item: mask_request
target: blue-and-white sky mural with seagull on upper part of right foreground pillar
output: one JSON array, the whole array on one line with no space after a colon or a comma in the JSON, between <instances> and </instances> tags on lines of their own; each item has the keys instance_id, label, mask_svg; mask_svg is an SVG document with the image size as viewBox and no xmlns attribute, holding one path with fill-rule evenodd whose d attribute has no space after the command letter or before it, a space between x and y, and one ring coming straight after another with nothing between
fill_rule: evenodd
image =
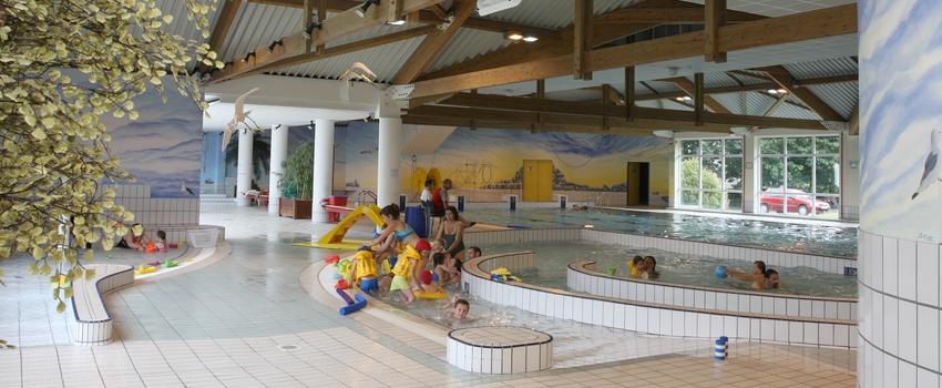
<instances>
[{"instance_id":1,"label":"blue-and-white sky mural with seagull on upper part of right foreground pillar","mask_svg":"<svg viewBox=\"0 0 942 388\"><path fill-rule=\"evenodd\" d=\"M942 242L942 8L860 1L861 227Z\"/></svg>"}]
</instances>

